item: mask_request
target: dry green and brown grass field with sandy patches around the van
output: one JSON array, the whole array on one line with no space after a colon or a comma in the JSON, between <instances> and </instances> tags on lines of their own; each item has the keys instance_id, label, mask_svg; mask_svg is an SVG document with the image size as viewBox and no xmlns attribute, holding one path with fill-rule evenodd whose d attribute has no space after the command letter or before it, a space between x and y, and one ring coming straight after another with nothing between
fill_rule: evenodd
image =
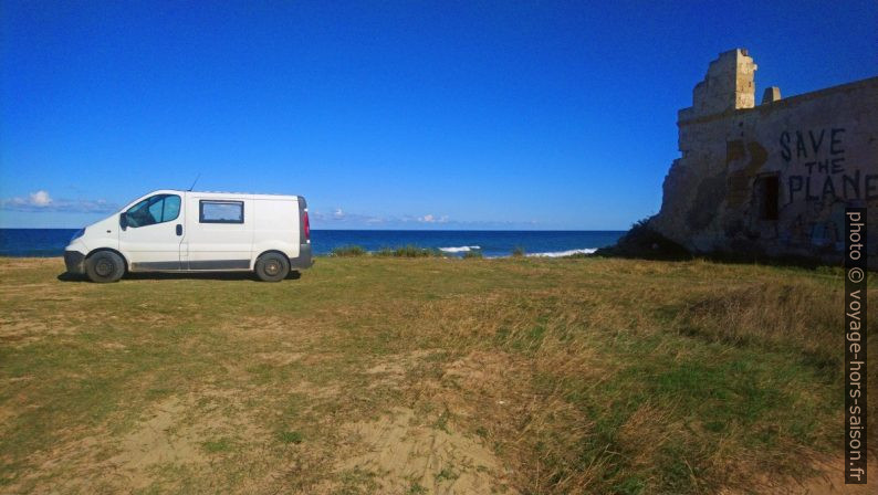
<instances>
[{"instance_id":1,"label":"dry green and brown grass field with sandy patches around the van","mask_svg":"<svg viewBox=\"0 0 878 495\"><path fill-rule=\"evenodd\" d=\"M842 470L840 270L62 272L0 260L3 493L822 493Z\"/></svg>"}]
</instances>

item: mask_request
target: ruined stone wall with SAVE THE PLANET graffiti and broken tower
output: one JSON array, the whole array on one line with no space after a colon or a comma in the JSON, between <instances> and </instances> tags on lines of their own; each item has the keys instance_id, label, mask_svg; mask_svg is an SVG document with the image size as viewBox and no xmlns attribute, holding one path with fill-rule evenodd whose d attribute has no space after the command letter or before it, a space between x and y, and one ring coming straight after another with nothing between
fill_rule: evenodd
<instances>
[{"instance_id":1,"label":"ruined stone wall with SAVE THE PLANET graffiti and broken tower","mask_svg":"<svg viewBox=\"0 0 878 495\"><path fill-rule=\"evenodd\" d=\"M878 77L755 105L756 65L720 54L678 116L679 148L650 227L696 253L842 261L844 210L868 210L878 265Z\"/></svg>"}]
</instances>

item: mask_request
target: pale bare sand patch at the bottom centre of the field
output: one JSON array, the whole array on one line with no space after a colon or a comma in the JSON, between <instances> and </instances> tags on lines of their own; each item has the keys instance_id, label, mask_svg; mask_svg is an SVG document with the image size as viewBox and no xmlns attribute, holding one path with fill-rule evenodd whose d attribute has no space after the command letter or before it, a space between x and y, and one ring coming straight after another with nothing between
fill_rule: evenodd
<instances>
[{"instance_id":1,"label":"pale bare sand patch at the bottom centre of the field","mask_svg":"<svg viewBox=\"0 0 878 495\"><path fill-rule=\"evenodd\" d=\"M516 493L510 486L513 473L482 433L461 426L482 413L513 413L510 406L520 402L508 393L504 375L511 358L478 352L446 364L437 352L385 356L364 370L370 388L401 388L415 406L342 426L346 446L336 474L365 475L376 493Z\"/></svg>"}]
</instances>

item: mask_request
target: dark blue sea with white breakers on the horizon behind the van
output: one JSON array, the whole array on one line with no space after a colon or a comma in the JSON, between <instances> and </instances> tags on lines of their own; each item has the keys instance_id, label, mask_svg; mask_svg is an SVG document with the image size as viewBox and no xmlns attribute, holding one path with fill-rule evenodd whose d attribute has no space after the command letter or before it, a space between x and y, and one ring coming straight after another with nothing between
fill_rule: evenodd
<instances>
[{"instance_id":1,"label":"dark blue sea with white breakers on the horizon behind the van","mask_svg":"<svg viewBox=\"0 0 878 495\"><path fill-rule=\"evenodd\" d=\"M0 229L0 256L61 256L77 229ZM437 249L450 256L479 251L485 257L509 256L516 249L529 256L568 256L613 245L625 233L616 230L312 230L314 254L358 245L366 251L407 245Z\"/></svg>"}]
</instances>

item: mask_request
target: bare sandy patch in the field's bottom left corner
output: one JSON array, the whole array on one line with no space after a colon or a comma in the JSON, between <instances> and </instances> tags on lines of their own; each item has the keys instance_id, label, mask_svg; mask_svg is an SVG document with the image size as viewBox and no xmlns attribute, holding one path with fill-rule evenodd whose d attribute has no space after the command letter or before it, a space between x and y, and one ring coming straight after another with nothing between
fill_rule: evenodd
<instances>
[{"instance_id":1,"label":"bare sandy patch in the field's bottom left corner","mask_svg":"<svg viewBox=\"0 0 878 495\"><path fill-rule=\"evenodd\" d=\"M216 460L269 443L270 434L241 413L236 396L207 389L164 399L118 436L104 426L71 430L53 449L32 455L39 470L10 487L13 493L128 493L150 486L164 492L180 482L168 480L168 470L209 476Z\"/></svg>"}]
</instances>

